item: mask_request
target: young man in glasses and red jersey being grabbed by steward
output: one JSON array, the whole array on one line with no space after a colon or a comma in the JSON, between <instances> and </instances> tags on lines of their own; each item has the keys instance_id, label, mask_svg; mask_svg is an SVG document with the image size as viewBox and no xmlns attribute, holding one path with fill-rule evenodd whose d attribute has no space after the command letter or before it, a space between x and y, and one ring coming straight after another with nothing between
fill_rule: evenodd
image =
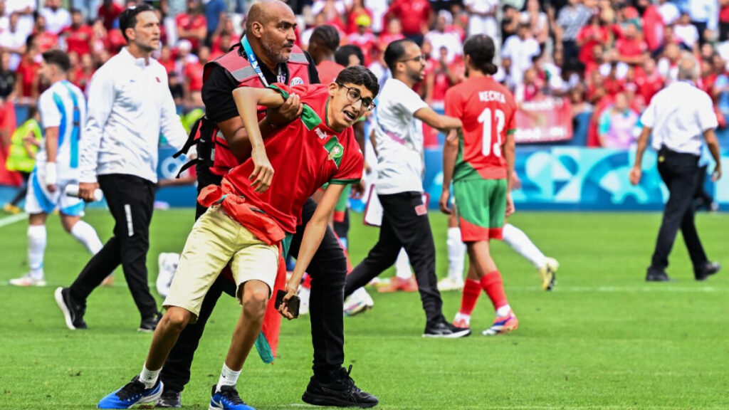
<instances>
[{"instance_id":1,"label":"young man in glasses and red jersey being grabbed by steward","mask_svg":"<svg viewBox=\"0 0 729 410\"><path fill-rule=\"evenodd\" d=\"M252 144L252 158L228 172L221 186L209 185L200 192L198 201L209 208L188 236L163 303L167 312L157 325L144 368L102 399L99 409L128 409L159 397L163 387L158 376L170 349L182 329L197 319L206 292L229 261L243 309L220 379L213 386L210 409L253 409L243 403L235 383L260 332L280 255L285 255L282 248L296 231L305 201L328 183L303 233L297 264L286 284L284 301L288 301L296 295L344 186L362 177L364 159L351 126L374 107L378 91L377 78L362 66L343 70L328 85L277 83L233 91ZM280 107L289 94L300 97L301 116L273 131L264 143L257 107ZM285 307L281 314L293 318ZM305 401L316 401L311 399ZM377 398L367 395L359 406L377 403Z\"/></svg>"}]
</instances>

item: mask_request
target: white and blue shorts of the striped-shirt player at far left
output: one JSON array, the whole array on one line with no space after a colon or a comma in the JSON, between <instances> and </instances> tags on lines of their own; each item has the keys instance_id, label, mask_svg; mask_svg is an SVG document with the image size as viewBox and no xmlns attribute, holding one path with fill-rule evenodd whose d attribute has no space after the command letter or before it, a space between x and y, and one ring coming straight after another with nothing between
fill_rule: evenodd
<instances>
[{"instance_id":1,"label":"white and blue shorts of the striped-shirt player at far left","mask_svg":"<svg viewBox=\"0 0 729 410\"><path fill-rule=\"evenodd\" d=\"M51 212L58 209L62 214L72 217L84 216L84 201L73 196L63 194L66 191L66 185L78 185L76 179L58 179L55 192L48 192L42 175L39 175L38 169L31 172L28 177L28 193L26 194L26 212L28 214L40 214Z\"/></svg>"}]
</instances>

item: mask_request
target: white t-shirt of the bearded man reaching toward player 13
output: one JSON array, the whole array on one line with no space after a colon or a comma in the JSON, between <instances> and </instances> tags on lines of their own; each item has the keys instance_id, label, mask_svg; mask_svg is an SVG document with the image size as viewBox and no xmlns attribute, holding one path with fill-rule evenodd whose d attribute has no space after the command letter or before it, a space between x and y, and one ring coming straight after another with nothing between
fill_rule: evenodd
<instances>
[{"instance_id":1,"label":"white t-shirt of the bearded man reaching toward player 13","mask_svg":"<svg viewBox=\"0 0 729 410\"><path fill-rule=\"evenodd\" d=\"M377 193L423 192L423 123L413 114L428 104L394 78L385 82L378 100Z\"/></svg>"}]
</instances>

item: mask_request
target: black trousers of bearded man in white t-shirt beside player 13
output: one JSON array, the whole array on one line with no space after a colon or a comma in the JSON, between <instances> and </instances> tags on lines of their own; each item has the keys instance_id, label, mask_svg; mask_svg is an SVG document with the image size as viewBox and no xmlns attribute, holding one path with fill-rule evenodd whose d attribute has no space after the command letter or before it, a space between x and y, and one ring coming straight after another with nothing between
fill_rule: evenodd
<instances>
[{"instance_id":1,"label":"black trousers of bearded man in white t-shirt beside player 13","mask_svg":"<svg viewBox=\"0 0 729 410\"><path fill-rule=\"evenodd\" d=\"M383 207L380 237L367 258L347 276L345 297L394 265L400 248L404 247L415 271L428 325L444 322L443 301L435 275L435 244L422 194L405 192L378 195L378 198Z\"/></svg>"}]
</instances>

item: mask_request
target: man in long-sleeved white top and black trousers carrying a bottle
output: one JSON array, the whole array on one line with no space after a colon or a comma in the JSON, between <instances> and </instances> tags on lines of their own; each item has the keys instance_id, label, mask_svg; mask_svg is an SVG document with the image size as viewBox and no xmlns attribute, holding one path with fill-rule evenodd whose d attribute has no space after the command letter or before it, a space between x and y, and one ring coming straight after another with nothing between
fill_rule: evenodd
<instances>
[{"instance_id":1,"label":"man in long-sleeved white top and black trousers carrying a bottle","mask_svg":"<svg viewBox=\"0 0 729 410\"><path fill-rule=\"evenodd\" d=\"M160 21L149 4L119 18L128 42L93 76L81 141L79 197L93 201L101 187L112 212L114 236L86 264L71 287L56 290L56 302L71 329L86 328L86 299L120 264L141 314L140 331L157 327L159 311L147 284L149 223L157 183L160 133L176 148L187 133L177 117L167 72L151 58L160 47Z\"/></svg>"}]
</instances>

